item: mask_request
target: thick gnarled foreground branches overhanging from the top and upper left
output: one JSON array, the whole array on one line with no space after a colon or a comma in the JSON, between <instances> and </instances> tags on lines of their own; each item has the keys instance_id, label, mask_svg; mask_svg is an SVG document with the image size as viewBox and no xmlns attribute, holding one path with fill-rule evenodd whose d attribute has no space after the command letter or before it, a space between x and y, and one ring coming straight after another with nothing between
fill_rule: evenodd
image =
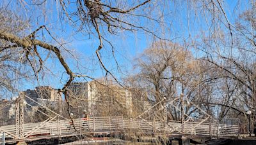
<instances>
[{"instance_id":1,"label":"thick gnarled foreground branches overhanging from the top and upper left","mask_svg":"<svg viewBox=\"0 0 256 145\"><path fill-rule=\"evenodd\" d=\"M31 3L32 6L35 6L35 9L39 11L39 6L48 4L48 1L43 1L42 3L34 3L34 1L31 1L29 3ZM110 74L117 82L119 81L107 69L107 67L104 65L102 57L100 56L100 50L102 50L104 42L106 42L111 46L111 53L115 59L115 51L113 50L113 46L108 39L105 38L105 35L117 34L117 31L142 30L152 34L155 37L158 37L154 32L150 31L150 29L147 29L147 27L144 27L141 24L137 25L134 23L135 21L129 21L129 17L143 17L144 15L147 15L147 13L145 14L145 11L137 10L149 4L150 1L139 1L138 3L134 1L134 3L129 4L125 4L125 2L109 3L109 1L103 2L88 0L79 0L75 1L75 3L69 3L69 1L57 1L57 3L60 4L61 12L64 13L64 15L61 15L60 17L63 18L61 21L63 20L63 22L65 22L65 20L69 20L74 29L76 29L78 25L80 26L79 29L77 29L77 32L81 31L85 35L93 35L93 38L99 40L99 46L92 50L95 50L100 66L104 69L104 71L106 71L106 75ZM27 3L24 1L20 1L20 4L17 4L17 6L24 6L24 11L26 13L30 13L29 8L26 7L26 4ZM70 9L70 7L74 9ZM145 8L150 7L147 6ZM56 9L58 10L58 8ZM124 18L127 20L124 20ZM6 21L3 22L6 23ZM105 34L106 31L108 33ZM43 34L41 35L40 32ZM54 41L54 43L45 41L44 34L47 34L47 38L50 38L52 41ZM6 31L6 29L0 29L0 39L7 41L10 44L4 46L4 50L9 51L19 49L21 51L20 56L22 56L23 60L28 62L29 66L31 66L36 78L38 78L38 74L40 72L43 72L44 69L46 69L45 62L49 60L49 56L56 57L58 59L61 66L65 70L65 75L68 76L67 81L60 89L60 92L63 92L65 95L65 100L68 104L67 110L69 110L69 103L67 99L69 93L67 87L70 85L70 83L75 78L93 79L86 74L76 73L74 70L70 69L70 65L68 65L67 60L65 60L65 56L63 55L63 52L69 52L69 50L63 46L65 44L60 43L60 41L54 37L47 25L39 25L32 32L24 32L23 34L17 34L16 32L12 33ZM45 53L48 54L47 57L44 57Z\"/></svg>"}]
</instances>

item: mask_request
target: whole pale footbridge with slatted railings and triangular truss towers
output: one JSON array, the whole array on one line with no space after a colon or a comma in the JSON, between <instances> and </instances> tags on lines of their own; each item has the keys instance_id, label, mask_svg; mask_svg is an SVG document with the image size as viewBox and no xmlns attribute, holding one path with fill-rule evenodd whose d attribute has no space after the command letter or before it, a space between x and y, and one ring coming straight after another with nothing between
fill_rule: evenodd
<instances>
[{"instance_id":1,"label":"whole pale footbridge with slatted railings and triangular truss towers","mask_svg":"<svg viewBox=\"0 0 256 145\"><path fill-rule=\"evenodd\" d=\"M44 115L49 118L39 123L24 123L24 97L35 102L40 107L44 107L47 111L55 116ZM173 102L181 100L181 107L177 107ZM239 137L239 121L237 119L218 120L212 118L203 109L190 102L205 114L204 119L192 118L184 113L184 99L177 97L173 100L166 100L150 107L147 111L133 119L124 118L122 116L101 116L88 117L78 119L67 119L46 106L36 102L26 95L20 95L16 101L15 125L6 125L0 127L0 134L4 134L5 142L31 142L44 139L61 139L77 137L78 139L111 135L114 137L186 137L189 139L198 137L209 138L236 138ZM161 112L164 113L163 118L157 116L159 111L154 112L154 118L149 119L148 111L154 109L157 105L163 103ZM181 120L167 120L166 108L173 106L180 111ZM160 114L161 116L161 114ZM185 118L186 116L186 118ZM61 118L61 119L60 119Z\"/></svg>"}]
</instances>

